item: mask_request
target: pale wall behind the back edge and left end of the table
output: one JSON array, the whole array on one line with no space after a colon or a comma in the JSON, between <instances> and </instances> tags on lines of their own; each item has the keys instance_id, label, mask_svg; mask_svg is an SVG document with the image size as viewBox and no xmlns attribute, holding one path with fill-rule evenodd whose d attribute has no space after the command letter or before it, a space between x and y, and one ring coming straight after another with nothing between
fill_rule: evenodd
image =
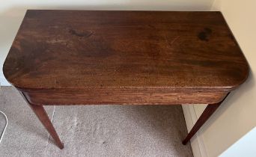
<instances>
[{"instance_id":1,"label":"pale wall behind the back edge and left end of the table","mask_svg":"<svg viewBox=\"0 0 256 157\"><path fill-rule=\"evenodd\" d=\"M0 0L0 83L2 64L27 9L210 10L213 0Z\"/></svg>"}]
</instances>

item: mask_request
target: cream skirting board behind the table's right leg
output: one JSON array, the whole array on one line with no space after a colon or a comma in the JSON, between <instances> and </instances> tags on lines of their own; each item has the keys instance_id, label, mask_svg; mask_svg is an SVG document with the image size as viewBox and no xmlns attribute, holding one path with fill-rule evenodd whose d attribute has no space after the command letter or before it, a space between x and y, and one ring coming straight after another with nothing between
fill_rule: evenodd
<instances>
[{"instance_id":1,"label":"cream skirting board behind the table's right leg","mask_svg":"<svg viewBox=\"0 0 256 157\"><path fill-rule=\"evenodd\" d=\"M186 127L188 132L195 125L195 122L198 120L197 114L195 112L194 105L182 105L183 114L186 121ZM194 135L190 140L194 157L208 157L207 150L204 147L204 139L200 133L200 130Z\"/></svg>"}]
</instances>

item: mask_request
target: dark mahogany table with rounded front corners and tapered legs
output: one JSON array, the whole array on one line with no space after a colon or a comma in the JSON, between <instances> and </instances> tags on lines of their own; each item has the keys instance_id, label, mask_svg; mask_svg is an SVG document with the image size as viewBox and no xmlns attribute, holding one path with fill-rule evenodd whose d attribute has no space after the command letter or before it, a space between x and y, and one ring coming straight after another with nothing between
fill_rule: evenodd
<instances>
[{"instance_id":1,"label":"dark mahogany table with rounded front corners and tapered legs","mask_svg":"<svg viewBox=\"0 0 256 157\"><path fill-rule=\"evenodd\" d=\"M209 104L186 144L249 65L220 12L28 10L3 71L62 149L43 105Z\"/></svg>"}]
</instances>

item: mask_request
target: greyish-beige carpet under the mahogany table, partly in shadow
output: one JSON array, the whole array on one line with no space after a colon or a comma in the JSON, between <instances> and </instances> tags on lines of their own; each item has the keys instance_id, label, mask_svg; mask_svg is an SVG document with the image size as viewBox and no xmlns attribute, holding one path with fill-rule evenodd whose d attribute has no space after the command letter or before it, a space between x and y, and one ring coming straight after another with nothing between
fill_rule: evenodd
<instances>
[{"instance_id":1,"label":"greyish-beige carpet under the mahogany table, partly in shadow","mask_svg":"<svg viewBox=\"0 0 256 157\"><path fill-rule=\"evenodd\" d=\"M180 105L48 106L64 150L13 87L0 88L0 110L0 156L192 156Z\"/></svg>"}]
</instances>

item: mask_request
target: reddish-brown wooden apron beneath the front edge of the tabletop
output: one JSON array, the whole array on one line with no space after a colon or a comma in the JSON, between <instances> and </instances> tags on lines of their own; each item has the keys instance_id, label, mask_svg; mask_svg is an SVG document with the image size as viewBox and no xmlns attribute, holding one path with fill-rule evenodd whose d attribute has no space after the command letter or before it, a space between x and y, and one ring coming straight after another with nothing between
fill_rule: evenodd
<instances>
[{"instance_id":1,"label":"reddish-brown wooden apron beneath the front edge of the tabletop","mask_svg":"<svg viewBox=\"0 0 256 157\"><path fill-rule=\"evenodd\" d=\"M34 105L175 105L213 104L227 91L183 92L162 89L129 90L47 90L22 91Z\"/></svg>"}]
</instances>

